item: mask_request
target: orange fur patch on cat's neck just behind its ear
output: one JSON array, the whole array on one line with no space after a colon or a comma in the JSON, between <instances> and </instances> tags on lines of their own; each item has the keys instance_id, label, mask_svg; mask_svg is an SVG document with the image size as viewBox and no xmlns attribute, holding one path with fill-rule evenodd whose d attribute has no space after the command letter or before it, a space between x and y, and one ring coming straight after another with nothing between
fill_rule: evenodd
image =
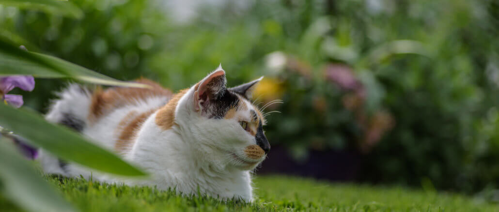
<instances>
[{"instance_id":1,"label":"orange fur patch on cat's neck just behind its ear","mask_svg":"<svg viewBox=\"0 0 499 212\"><path fill-rule=\"evenodd\" d=\"M189 91L189 88L179 91L165 106L158 110L158 113L156 114L156 124L163 130L168 130L175 124L175 108L177 107L180 98L182 98L187 91Z\"/></svg>"}]
</instances>

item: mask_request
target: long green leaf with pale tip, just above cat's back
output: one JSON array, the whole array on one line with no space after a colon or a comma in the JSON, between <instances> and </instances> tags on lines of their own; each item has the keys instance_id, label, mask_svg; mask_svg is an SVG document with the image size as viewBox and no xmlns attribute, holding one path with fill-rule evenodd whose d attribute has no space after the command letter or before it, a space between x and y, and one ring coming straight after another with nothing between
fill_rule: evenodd
<instances>
[{"instance_id":1,"label":"long green leaf with pale tip, just above cat's back","mask_svg":"<svg viewBox=\"0 0 499 212\"><path fill-rule=\"evenodd\" d=\"M0 37L0 76L33 75L38 78L74 78L88 83L150 88L135 82L124 82L64 61L57 57L21 50Z\"/></svg>"}]
</instances>

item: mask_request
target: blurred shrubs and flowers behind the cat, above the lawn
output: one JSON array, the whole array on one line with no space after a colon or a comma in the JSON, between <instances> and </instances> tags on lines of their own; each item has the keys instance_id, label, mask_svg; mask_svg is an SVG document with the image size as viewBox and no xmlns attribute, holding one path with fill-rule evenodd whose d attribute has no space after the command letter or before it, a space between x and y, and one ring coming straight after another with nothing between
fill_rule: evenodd
<instances>
[{"instance_id":1,"label":"blurred shrubs and flowers behind the cat, above the lawn","mask_svg":"<svg viewBox=\"0 0 499 212\"><path fill-rule=\"evenodd\" d=\"M174 91L222 63L259 76L280 173L499 201L497 0L72 0L82 18L0 5L1 33L120 80ZM43 8L41 8L43 9ZM37 79L45 112L67 82Z\"/></svg>"}]
</instances>

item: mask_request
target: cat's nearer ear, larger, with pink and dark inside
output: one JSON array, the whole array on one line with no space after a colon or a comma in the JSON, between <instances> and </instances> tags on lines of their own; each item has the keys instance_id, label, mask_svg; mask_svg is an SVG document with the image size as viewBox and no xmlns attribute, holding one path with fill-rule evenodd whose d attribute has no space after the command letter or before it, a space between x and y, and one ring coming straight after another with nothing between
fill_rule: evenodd
<instances>
[{"instance_id":1,"label":"cat's nearer ear, larger, with pink and dark inside","mask_svg":"<svg viewBox=\"0 0 499 212\"><path fill-rule=\"evenodd\" d=\"M223 95L227 90L226 84L225 71L219 66L194 87L194 109L199 111L210 101Z\"/></svg>"}]
</instances>

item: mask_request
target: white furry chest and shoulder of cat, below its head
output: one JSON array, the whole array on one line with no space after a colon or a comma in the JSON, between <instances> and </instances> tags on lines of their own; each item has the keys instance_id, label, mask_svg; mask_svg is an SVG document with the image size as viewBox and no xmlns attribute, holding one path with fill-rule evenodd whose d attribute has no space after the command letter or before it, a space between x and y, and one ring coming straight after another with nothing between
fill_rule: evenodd
<instances>
[{"instance_id":1,"label":"white furry chest and shoulder of cat, below its head","mask_svg":"<svg viewBox=\"0 0 499 212\"><path fill-rule=\"evenodd\" d=\"M175 188L184 194L197 194L199 188L212 197L251 199L249 171L210 168L207 157L187 145L180 129L160 129L155 125L155 115L145 121L128 156L153 176L148 185L162 190Z\"/></svg>"}]
</instances>

